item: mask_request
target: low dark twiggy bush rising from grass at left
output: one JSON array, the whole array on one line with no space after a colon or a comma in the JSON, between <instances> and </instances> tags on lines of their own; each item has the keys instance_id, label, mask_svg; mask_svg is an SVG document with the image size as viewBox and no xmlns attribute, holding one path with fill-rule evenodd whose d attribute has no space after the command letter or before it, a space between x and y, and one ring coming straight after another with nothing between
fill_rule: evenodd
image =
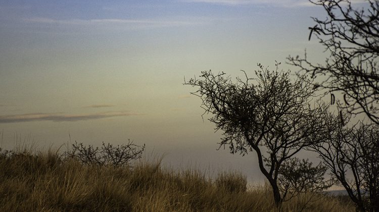
<instances>
[{"instance_id":1,"label":"low dark twiggy bush rising from grass at left","mask_svg":"<svg viewBox=\"0 0 379 212\"><path fill-rule=\"evenodd\" d=\"M65 158L72 158L80 161L85 165L113 166L113 167L130 167L129 161L141 158L145 150L145 144L138 146L128 139L124 145L113 146L103 142L99 148L92 145L84 146L83 143L75 141L72 149L64 152Z\"/></svg>"}]
</instances>

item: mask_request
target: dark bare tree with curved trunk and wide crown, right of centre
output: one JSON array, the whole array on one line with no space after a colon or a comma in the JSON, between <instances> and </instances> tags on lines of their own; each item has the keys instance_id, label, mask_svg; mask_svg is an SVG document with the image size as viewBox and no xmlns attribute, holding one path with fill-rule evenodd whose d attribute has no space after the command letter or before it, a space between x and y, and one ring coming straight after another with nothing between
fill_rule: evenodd
<instances>
[{"instance_id":1,"label":"dark bare tree with curved trunk and wide crown, right of centre","mask_svg":"<svg viewBox=\"0 0 379 212\"><path fill-rule=\"evenodd\" d=\"M257 79L244 72L245 78L232 82L223 72L203 71L200 79L184 84L198 88L192 94L202 99L205 114L213 115L209 120L216 130L223 131L219 147L228 145L231 153L242 155L256 152L279 207L285 197L278 181L281 166L309 145L310 135L324 132L328 107L320 102L311 105L314 89L306 76L291 80L290 72L279 71L278 64L274 71L258 67Z\"/></svg>"}]
</instances>

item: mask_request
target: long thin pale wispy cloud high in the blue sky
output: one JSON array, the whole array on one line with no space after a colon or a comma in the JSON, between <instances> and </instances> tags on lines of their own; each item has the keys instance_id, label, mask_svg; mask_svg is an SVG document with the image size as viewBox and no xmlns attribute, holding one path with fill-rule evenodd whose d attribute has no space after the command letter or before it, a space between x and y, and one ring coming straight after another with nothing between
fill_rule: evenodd
<instances>
[{"instance_id":1,"label":"long thin pale wispy cloud high in the blue sky","mask_svg":"<svg viewBox=\"0 0 379 212\"><path fill-rule=\"evenodd\" d=\"M190 25L200 25L205 24L206 20L193 20L188 18L188 20L153 20L153 19L51 19L51 18L28 18L23 19L29 23L40 23L40 24L61 24L61 25L121 25L121 26L131 26L131 27L177 27L177 26L190 26Z\"/></svg>"}]
</instances>

